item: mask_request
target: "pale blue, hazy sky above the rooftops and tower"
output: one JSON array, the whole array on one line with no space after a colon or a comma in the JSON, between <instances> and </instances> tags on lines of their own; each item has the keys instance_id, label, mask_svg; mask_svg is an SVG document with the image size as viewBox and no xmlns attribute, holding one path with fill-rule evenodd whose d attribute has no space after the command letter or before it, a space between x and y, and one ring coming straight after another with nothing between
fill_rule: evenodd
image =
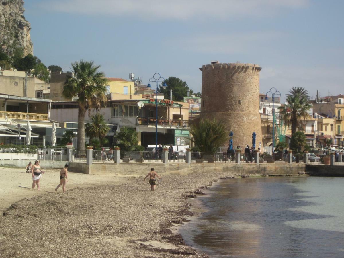
<instances>
[{"instance_id":1,"label":"pale blue, hazy sky above the rooftops and tower","mask_svg":"<svg viewBox=\"0 0 344 258\"><path fill-rule=\"evenodd\" d=\"M259 64L260 92L344 94L344 1L26 0L34 55L70 71L93 60L108 77L179 77L201 92L211 61Z\"/></svg>"}]
</instances>

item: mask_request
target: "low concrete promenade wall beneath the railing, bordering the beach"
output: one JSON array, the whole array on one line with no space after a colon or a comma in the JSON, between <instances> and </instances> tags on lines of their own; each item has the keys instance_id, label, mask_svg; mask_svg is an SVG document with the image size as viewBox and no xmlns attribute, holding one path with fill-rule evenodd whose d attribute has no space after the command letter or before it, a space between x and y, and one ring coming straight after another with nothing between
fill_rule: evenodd
<instances>
[{"instance_id":1,"label":"low concrete promenade wall beneath the railing, bordering the beach","mask_svg":"<svg viewBox=\"0 0 344 258\"><path fill-rule=\"evenodd\" d=\"M146 175L151 168L157 173L188 174L192 172L218 171L236 174L262 174L262 175L297 175L305 171L305 164L92 164L69 162L68 170L85 174L113 174L115 176L138 176Z\"/></svg>"}]
</instances>

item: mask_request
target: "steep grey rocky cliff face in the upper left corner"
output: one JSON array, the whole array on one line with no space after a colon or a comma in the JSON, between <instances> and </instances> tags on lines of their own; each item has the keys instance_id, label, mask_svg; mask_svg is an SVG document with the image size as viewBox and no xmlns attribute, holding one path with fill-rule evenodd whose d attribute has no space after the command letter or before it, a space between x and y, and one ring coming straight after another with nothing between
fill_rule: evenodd
<instances>
[{"instance_id":1,"label":"steep grey rocky cliff face in the upper left corner","mask_svg":"<svg viewBox=\"0 0 344 258\"><path fill-rule=\"evenodd\" d=\"M14 49L23 48L24 56L33 54L31 26L25 20L23 0L0 0L0 45L11 56Z\"/></svg>"}]
</instances>

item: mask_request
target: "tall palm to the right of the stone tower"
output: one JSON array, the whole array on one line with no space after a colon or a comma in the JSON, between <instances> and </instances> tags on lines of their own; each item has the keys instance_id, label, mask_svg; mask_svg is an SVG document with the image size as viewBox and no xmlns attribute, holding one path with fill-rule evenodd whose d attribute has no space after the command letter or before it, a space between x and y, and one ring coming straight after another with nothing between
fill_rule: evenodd
<instances>
[{"instance_id":1,"label":"tall palm to the right of the stone tower","mask_svg":"<svg viewBox=\"0 0 344 258\"><path fill-rule=\"evenodd\" d=\"M287 104L281 106L280 115L284 121L290 119L291 122L291 135L296 132L297 128L301 127L301 120L308 119L309 114L308 110L312 107L309 103L308 98L304 94L308 94L307 90L304 88L293 89L290 92L295 90L295 95L290 95L287 97Z\"/></svg>"}]
</instances>

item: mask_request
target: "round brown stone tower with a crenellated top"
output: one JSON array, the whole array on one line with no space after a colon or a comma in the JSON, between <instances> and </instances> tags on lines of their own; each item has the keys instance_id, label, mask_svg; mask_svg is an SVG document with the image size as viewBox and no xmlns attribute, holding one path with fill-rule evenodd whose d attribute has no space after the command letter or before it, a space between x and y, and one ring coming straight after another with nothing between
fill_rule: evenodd
<instances>
[{"instance_id":1,"label":"round brown stone tower with a crenellated top","mask_svg":"<svg viewBox=\"0 0 344 258\"><path fill-rule=\"evenodd\" d=\"M201 118L223 122L228 134L233 131L233 146L244 151L252 146L252 132L256 132L256 149L262 141L259 114L259 72L254 64L203 65ZM223 146L228 147L229 142Z\"/></svg>"}]
</instances>

